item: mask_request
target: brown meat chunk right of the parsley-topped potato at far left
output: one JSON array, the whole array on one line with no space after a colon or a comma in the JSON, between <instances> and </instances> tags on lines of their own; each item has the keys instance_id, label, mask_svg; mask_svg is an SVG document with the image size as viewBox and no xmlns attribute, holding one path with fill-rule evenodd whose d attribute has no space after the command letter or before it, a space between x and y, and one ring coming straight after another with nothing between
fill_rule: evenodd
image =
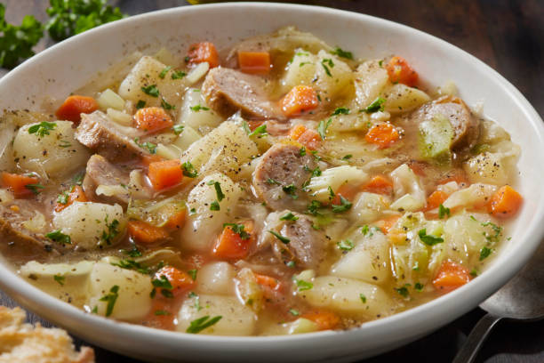
<instances>
[{"instance_id":1,"label":"brown meat chunk right of the parsley-topped potato at far left","mask_svg":"<svg viewBox=\"0 0 544 363\"><path fill-rule=\"evenodd\" d=\"M143 135L135 128L117 125L101 111L82 114L76 128L77 141L110 161L130 160L147 154L134 141Z\"/></svg>"}]
</instances>

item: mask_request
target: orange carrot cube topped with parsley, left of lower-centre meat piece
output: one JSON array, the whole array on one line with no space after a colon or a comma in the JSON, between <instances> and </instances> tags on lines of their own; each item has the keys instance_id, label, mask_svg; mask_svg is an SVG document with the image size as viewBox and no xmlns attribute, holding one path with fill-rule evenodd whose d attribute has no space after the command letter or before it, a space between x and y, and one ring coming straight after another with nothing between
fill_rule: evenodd
<instances>
[{"instance_id":1,"label":"orange carrot cube topped with parsley, left of lower-centre meat piece","mask_svg":"<svg viewBox=\"0 0 544 363\"><path fill-rule=\"evenodd\" d=\"M213 246L212 254L216 257L240 260L249 254L249 247L252 244L253 222L245 221L236 224L244 225L244 232L249 236L242 238L240 233L232 230L232 227L226 226Z\"/></svg>"}]
</instances>

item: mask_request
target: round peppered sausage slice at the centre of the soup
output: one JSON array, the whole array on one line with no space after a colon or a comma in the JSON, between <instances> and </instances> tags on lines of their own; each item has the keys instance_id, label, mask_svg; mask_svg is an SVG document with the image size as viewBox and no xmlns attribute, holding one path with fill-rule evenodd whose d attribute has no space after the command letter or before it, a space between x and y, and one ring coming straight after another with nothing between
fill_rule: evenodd
<instances>
[{"instance_id":1,"label":"round peppered sausage slice at the centre of the soup","mask_svg":"<svg viewBox=\"0 0 544 363\"><path fill-rule=\"evenodd\" d=\"M276 143L255 167L253 187L271 208L300 210L308 205L302 188L317 164L308 152L300 154L299 146Z\"/></svg>"}]
</instances>

